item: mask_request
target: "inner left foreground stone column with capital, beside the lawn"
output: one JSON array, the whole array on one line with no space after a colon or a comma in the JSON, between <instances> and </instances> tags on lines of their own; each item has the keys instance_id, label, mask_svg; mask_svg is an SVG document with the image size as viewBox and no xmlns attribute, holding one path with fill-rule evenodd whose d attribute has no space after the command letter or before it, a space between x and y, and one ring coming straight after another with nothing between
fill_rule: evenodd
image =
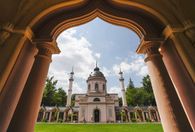
<instances>
[{"instance_id":1,"label":"inner left foreground stone column with capital, beside the lawn","mask_svg":"<svg viewBox=\"0 0 195 132\"><path fill-rule=\"evenodd\" d=\"M51 55L59 53L53 42L36 43L38 54L20 97L8 131L33 132L39 112Z\"/></svg>"}]
</instances>

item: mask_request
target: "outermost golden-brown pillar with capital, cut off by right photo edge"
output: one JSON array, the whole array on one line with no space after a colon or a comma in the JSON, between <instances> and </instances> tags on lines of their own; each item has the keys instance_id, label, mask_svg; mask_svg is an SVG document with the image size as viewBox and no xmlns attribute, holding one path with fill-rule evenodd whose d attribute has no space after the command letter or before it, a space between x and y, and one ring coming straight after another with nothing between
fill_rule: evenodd
<instances>
[{"instance_id":1,"label":"outermost golden-brown pillar with capital, cut off by right photo edge","mask_svg":"<svg viewBox=\"0 0 195 132\"><path fill-rule=\"evenodd\" d=\"M195 26L192 23L187 23L185 26L185 29L167 26L163 33L168 39L171 39L174 42L174 46L177 49L179 56L195 83Z\"/></svg>"}]
</instances>

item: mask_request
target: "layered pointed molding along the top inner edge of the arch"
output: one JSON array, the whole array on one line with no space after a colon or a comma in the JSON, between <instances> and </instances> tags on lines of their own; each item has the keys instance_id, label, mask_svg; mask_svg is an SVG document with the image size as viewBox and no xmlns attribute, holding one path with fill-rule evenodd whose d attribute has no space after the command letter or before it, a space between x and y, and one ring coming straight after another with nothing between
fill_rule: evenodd
<instances>
[{"instance_id":1,"label":"layered pointed molding along the top inner edge of the arch","mask_svg":"<svg viewBox=\"0 0 195 132\"><path fill-rule=\"evenodd\" d=\"M140 38L147 34L145 29L142 28L138 23L131 21L125 17L111 15L98 8L94 9L88 14L75 18L70 18L63 21L62 23L59 23L56 27L54 27L50 34L51 36L53 36L53 38L57 38L57 36L59 36L59 34L65 29L71 28L73 26L78 26L80 24L84 24L86 22L93 20L96 17L99 17L106 22L129 28L133 30Z\"/></svg>"}]
</instances>

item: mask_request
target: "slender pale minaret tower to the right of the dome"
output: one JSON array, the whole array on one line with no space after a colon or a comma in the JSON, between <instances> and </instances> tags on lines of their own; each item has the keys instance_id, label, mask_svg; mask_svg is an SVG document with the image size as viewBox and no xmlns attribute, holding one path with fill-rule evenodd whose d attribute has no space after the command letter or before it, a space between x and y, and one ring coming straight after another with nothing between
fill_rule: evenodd
<instances>
[{"instance_id":1,"label":"slender pale minaret tower to the right of the dome","mask_svg":"<svg viewBox=\"0 0 195 132\"><path fill-rule=\"evenodd\" d=\"M120 81L120 85L121 85L123 106L127 106L126 95L125 95L124 77L123 77L123 72L121 71L121 69L120 69L119 75L120 75L119 81Z\"/></svg>"}]
</instances>

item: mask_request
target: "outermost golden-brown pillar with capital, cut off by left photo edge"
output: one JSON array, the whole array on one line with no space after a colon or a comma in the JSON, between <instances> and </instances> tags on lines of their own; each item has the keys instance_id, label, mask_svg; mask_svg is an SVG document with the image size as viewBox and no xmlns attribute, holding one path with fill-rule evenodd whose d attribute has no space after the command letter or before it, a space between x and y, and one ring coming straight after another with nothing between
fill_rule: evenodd
<instances>
[{"instance_id":1,"label":"outermost golden-brown pillar with capital, cut off by left photo edge","mask_svg":"<svg viewBox=\"0 0 195 132\"><path fill-rule=\"evenodd\" d=\"M33 35L30 28L18 29L19 32L14 28L12 23L0 23L0 93L15 67L25 42L31 40Z\"/></svg>"}]
</instances>

